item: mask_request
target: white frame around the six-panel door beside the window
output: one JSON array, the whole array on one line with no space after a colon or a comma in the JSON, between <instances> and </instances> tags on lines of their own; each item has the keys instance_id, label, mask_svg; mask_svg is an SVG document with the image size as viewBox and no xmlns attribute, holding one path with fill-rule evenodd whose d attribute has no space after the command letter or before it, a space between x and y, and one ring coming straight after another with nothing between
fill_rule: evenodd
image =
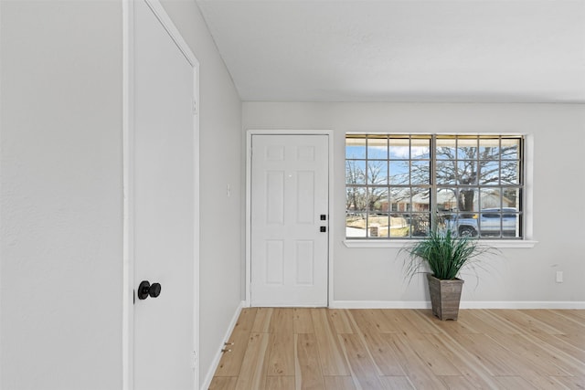
<instances>
[{"instance_id":1,"label":"white frame around the six-panel door beside the window","mask_svg":"<svg viewBox=\"0 0 585 390\"><path fill-rule=\"evenodd\" d=\"M327 231L327 307L331 306L334 294L333 279L333 235L332 229L335 227L334 209L334 132L331 130L248 130L246 132L246 300L245 306L251 306L251 204L252 204L252 136L254 135L327 135L327 154L328 154L328 219L329 229Z\"/></svg>"}]
</instances>

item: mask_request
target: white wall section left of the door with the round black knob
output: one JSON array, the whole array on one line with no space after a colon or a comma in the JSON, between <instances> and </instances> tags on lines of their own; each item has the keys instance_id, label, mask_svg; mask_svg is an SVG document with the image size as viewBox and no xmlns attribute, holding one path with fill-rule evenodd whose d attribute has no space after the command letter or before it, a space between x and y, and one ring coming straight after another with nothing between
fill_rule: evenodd
<instances>
[{"instance_id":1,"label":"white wall section left of the door with the round black knob","mask_svg":"<svg viewBox=\"0 0 585 390\"><path fill-rule=\"evenodd\" d=\"M0 3L0 387L121 388L122 7Z\"/></svg>"}]
</instances>

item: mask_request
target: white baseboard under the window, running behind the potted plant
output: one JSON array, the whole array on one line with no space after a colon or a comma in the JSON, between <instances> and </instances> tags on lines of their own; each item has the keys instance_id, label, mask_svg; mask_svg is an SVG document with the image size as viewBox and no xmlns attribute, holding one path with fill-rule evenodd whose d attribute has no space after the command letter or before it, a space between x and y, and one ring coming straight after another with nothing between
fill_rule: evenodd
<instances>
[{"instance_id":1,"label":"white baseboard under the window, running behind the potted plant","mask_svg":"<svg viewBox=\"0 0 585 390\"><path fill-rule=\"evenodd\" d=\"M428 300L334 300L332 309L431 309ZM463 300L461 309L585 309L585 301Z\"/></svg>"}]
</instances>

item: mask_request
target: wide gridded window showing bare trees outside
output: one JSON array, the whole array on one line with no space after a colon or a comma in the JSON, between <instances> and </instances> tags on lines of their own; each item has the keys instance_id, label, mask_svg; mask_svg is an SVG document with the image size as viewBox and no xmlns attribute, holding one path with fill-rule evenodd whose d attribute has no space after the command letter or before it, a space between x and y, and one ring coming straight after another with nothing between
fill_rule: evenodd
<instances>
[{"instance_id":1,"label":"wide gridded window showing bare trees outside","mask_svg":"<svg viewBox=\"0 0 585 390\"><path fill-rule=\"evenodd\" d=\"M522 136L347 134L346 237L523 238Z\"/></svg>"}]
</instances>

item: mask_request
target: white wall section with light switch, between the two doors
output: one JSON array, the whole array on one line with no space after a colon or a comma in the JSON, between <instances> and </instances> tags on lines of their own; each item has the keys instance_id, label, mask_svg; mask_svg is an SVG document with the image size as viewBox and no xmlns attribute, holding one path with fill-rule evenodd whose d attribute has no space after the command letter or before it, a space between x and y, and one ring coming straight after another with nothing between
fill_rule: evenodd
<instances>
[{"instance_id":1,"label":"white wall section with light switch, between the two doors","mask_svg":"<svg viewBox=\"0 0 585 390\"><path fill-rule=\"evenodd\" d=\"M200 370L203 381L242 300L241 102L195 1L168 0L163 5L200 64Z\"/></svg>"}]
</instances>

